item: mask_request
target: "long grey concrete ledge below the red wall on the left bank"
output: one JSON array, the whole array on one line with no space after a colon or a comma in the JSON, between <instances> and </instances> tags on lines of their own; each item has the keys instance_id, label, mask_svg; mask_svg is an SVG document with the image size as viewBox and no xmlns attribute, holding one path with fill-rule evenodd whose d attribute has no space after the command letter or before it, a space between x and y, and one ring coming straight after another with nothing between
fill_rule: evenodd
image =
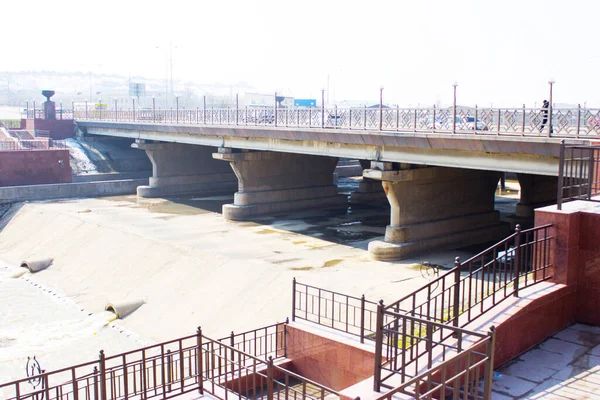
<instances>
[{"instance_id":1,"label":"long grey concrete ledge below the red wall on the left bank","mask_svg":"<svg viewBox=\"0 0 600 400\"><path fill-rule=\"evenodd\" d=\"M134 194L148 179L126 179L118 181L57 183L51 185L0 187L0 203L26 200L50 200L71 197L102 197Z\"/></svg>"}]
</instances>

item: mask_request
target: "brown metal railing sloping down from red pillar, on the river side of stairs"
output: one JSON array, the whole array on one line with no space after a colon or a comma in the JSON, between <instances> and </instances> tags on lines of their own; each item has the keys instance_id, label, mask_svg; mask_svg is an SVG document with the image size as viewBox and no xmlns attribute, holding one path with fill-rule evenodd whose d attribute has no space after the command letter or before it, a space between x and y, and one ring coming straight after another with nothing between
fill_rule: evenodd
<instances>
[{"instance_id":1,"label":"brown metal railing sloping down from red pillar, on the river side of stairs","mask_svg":"<svg viewBox=\"0 0 600 400\"><path fill-rule=\"evenodd\" d=\"M415 292L388 306L380 303L377 326L384 328L378 329L376 336L375 390L379 391L395 374L400 374L402 382L415 376L407 374L406 368L410 366L409 372L415 374L419 371L419 360L426 354L431 357L431 348L423 352L420 347L431 342L427 340L430 329L440 329L440 335L446 332L434 343L444 353L444 340L455 335L448 331L450 327L466 326L508 297L518 296L520 289L550 279L551 227L549 224L521 231L517 225L514 234L463 263L457 258L452 270ZM406 321L399 315L420 318L431 325L423 332L421 325L414 328L411 323L408 333L399 333L406 329ZM393 338L400 335L398 340L404 349L400 368L396 364L397 354L386 353L392 348L384 341L386 329L396 332ZM381 375L381 370L390 373Z\"/></svg>"}]
</instances>

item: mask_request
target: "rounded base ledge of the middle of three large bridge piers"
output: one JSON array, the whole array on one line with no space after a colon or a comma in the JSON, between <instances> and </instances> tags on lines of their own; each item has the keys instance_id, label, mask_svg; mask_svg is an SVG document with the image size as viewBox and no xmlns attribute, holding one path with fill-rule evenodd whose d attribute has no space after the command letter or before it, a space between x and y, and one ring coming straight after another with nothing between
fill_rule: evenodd
<instances>
[{"instance_id":1,"label":"rounded base ledge of the middle of three large bridge piers","mask_svg":"<svg viewBox=\"0 0 600 400\"><path fill-rule=\"evenodd\" d=\"M341 194L331 197L277 203L261 203L247 206L225 204L223 206L223 217L233 221L244 221L258 215L275 214L291 210L302 210L306 208L342 208L347 206L348 198Z\"/></svg>"}]
</instances>

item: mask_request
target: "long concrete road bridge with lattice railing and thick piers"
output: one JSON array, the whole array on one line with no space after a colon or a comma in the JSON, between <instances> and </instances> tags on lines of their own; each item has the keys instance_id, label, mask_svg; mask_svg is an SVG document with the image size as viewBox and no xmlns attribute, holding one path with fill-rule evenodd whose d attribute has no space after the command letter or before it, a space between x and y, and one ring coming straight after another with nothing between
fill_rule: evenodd
<instances>
[{"instance_id":1,"label":"long concrete road bridge with lattice railing and thick piers","mask_svg":"<svg viewBox=\"0 0 600 400\"><path fill-rule=\"evenodd\" d=\"M146 151L153 176L139 196L235 192L223 207L232 220L346 206L334 169L338 158L359 159L363 181L350 201L391 206L385 240L369 244L382 260L506 236L494 210L500 173L517 173L517 216L531 217L556 201L561 142L600 140L600 110L581 107L133 107L73 117L83 134L135 139Z\"/></svg>"}]
</instances>

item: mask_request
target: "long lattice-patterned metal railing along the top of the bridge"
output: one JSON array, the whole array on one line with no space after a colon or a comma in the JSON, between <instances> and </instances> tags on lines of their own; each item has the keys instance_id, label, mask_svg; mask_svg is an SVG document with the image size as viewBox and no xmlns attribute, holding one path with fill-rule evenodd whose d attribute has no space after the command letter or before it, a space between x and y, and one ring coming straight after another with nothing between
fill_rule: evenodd
<instances>
[{"instance_id":1,"label":"long lattice-patterned metal railing along the top of the bridge","mask_svg":"<svg viewBox=\"0 0 600 400\"><path fill-rule=\"evenodd\" d=\"M36 110L40 111L40 110ZM600 137L600 110L554 108L196 108L75 110L75 119L533 137Z\"/></svg>"}]
</instances>

